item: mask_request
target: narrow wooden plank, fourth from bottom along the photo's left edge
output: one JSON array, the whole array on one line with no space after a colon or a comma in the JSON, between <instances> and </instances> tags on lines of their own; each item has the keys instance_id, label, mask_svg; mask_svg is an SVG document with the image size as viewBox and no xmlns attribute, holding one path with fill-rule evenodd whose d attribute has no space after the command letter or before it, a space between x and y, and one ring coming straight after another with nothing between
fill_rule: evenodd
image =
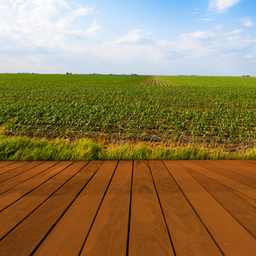
<instances>
[{"instance_id":1,"label":"narrow wooden plank, fourth from bottom along the photo's left edge","mask_svg":"<svg viewBox=\"0 0 256 256\"><path fill-rule=\"evenodd\" d=\"M9 189L12 189L15 186L17 186L18 184L23 183L26 180L38 175L38 173L40 173L40 172L45 172L49 167L55 166L55 164L57 164L57 163L58 163L57 161L44 162L40 166L36 166L27 172L23 172L20 175L1 183L0 194L3 194L3 192L5 192Z\"/></svg>"}]
</instances>

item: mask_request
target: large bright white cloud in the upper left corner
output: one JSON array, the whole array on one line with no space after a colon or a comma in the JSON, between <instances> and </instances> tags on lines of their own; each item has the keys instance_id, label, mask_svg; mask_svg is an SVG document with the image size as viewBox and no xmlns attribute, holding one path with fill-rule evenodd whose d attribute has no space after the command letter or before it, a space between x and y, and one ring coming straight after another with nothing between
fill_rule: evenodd
<instances>
[{"instance_id":1,"label":"large bright white cloud in the upper left corner","mask_svg":"<svg viewBox=\"0 0 256 256\"><path fill-rule=\"evenodd\" d=\"M92 8L67 0L2 0L0 36L19 41L19 46L60 47L67 38L77 39L101 28L96 20L90 26L90 20L84 30L74 29L77 17L92 12Z\"/></svg>"}]
</instances>

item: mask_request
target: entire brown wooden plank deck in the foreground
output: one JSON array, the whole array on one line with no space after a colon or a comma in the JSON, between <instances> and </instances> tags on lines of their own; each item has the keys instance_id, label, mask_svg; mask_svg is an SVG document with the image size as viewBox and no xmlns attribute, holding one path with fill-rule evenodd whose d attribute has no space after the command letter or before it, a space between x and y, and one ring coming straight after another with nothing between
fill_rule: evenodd
<instances>
[{"instance_id":1,"label":"entire brown wooden plank deck in the foreground","mask_svg":"<svg viewBox=\"0 0 256 256\"><path fill-rule=\"evenodd\" d=\"M256 255L256 161L0 162L0 255Z\"/></svg>"}]
</instances>

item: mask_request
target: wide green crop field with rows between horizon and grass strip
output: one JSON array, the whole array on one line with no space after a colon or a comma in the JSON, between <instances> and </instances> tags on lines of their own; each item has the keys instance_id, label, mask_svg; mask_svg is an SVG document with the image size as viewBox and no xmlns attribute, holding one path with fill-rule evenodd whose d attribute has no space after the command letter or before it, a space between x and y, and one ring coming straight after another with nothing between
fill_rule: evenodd
<instances>
[{"instance_id":1,"label":"wide green crop field with rows between horizon and grass strip","mask_svg":"<svg viewBox=\"0 0 256 256\"><path fill-rule=\"evenodd\" d=\"M0 75L5 135L227 150L256 143L256 79Z\"/></svg>"}]
</instances>

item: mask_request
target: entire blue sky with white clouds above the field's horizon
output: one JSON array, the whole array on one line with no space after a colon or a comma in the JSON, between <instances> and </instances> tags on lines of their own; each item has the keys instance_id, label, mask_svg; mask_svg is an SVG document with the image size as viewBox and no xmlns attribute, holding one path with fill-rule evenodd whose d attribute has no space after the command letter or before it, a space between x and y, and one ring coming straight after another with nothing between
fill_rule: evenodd
<instances>
[{"instance_id":1,"label":"entire blue sky with white clouds above the field's horizon","mask_svg":"<svg viewBox=\"0 0 256 256\"><path fill-rule=\"evenodd\" d=\"M256 76L255 0L0 3L0 73Z\"/></svg>"}]
</instances>

